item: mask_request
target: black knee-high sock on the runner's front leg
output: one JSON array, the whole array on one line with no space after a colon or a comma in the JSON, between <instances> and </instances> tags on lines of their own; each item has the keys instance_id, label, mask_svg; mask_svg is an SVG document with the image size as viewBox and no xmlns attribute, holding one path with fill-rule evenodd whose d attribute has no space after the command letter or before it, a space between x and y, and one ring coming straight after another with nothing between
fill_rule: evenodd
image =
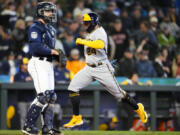
<instances>
[{"instance_id":1,"label":"black knee-high sock on the runner's front leg","mask_svg":"<svg viewBox=\"0 0 180 135\"><path fill-rule=\"evenodd\" d=\"M69 97L73 106L73 114L79 115L80 95L79 92L70 92Z\"/></svg>"}]
</instances>

